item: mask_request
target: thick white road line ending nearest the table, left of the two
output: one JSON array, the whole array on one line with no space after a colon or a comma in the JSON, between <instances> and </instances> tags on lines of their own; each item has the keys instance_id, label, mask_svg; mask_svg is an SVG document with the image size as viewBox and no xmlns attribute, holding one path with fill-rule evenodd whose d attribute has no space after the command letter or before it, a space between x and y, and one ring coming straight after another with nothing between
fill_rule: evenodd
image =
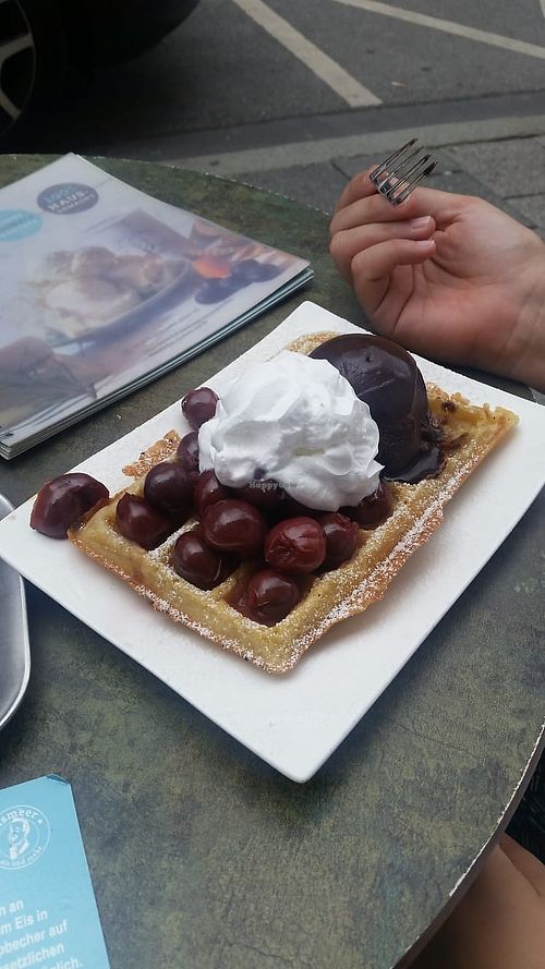
<instances>
[{"instance_id":1,"label":"thick white road line ending nearest the table, left of the two","mask_svg":"<svg viewBox=\"0 0 545 969\"><path fill-rule=\"evenodd\" d=\"M278 40L290 53L302 61L351 108L366 108L371 105L382 104L372 90L360 84L340 64L315 47L303 34L295 31L283 17L278 16L262 0L232 0L232 2L237 3L237 7L240 7L267 34L270 34L275 40Z\"/></svg>"}]
</instances>

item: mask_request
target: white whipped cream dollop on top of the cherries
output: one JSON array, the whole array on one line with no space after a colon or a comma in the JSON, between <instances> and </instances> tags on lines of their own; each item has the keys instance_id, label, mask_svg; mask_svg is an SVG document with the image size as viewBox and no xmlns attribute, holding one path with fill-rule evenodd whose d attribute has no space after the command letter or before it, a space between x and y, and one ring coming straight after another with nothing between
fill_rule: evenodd
<instances>
[{"instance_id":1,"label":"white whipped cream dollop on top of the cherries","mask_svg":"<svg viewBox=\"0 0 545 969\"><path fill-rule=\"evenodd\" d=\"M198 432L201 471L228 487L274 479L307 508L337 511L378 486L378 427L326 360L282 350L221 396Z\"/></svg>"}]
</instances>

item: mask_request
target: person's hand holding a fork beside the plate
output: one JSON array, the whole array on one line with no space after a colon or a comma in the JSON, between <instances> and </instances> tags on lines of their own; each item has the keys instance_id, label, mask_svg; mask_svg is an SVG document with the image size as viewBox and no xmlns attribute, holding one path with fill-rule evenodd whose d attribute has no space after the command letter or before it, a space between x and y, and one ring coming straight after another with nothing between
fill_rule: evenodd
<instances>
[{"instance_id":1,"label":"person's hand holding a fork beside the plate","mask_svg":"<svg viewBox=\"0 0 545 969\"><path fill-rule=\"evenodd\" d=\"M374 327L438 360L545 389L545 244L481 198L416 189L399 208L367 172L342 193L330 252Z\"/></svg>"}]
</instances>

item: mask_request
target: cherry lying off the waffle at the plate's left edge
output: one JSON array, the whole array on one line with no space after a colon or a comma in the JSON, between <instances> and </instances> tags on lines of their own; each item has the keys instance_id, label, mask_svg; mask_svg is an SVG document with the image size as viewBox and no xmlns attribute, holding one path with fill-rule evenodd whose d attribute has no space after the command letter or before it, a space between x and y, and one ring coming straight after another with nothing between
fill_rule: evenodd
<instances>
[{"instance_id":1,"label":"cherry lying off the waffle at the plate's left edge","mask_svg":"<svg viewBox=\"0 0 545 969\"><path fill-rule=\"evenodd\" d=\"M68 529L98 501L107 501L108 488L101 482L73 471L46 482L36 495L31 528L49 538L65 538Z\"/></svg>"}]
</instances>

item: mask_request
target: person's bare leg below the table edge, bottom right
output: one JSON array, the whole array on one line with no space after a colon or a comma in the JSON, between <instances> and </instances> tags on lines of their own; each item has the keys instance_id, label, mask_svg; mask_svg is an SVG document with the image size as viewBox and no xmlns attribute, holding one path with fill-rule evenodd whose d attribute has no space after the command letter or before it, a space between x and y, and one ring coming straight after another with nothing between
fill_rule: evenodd
<instances>
[{"instance_id":1,"label":"person's bare leg below the table edge, bottom right","mask_svg":"<svg viewBox=\"0 0 545 969\"><path fill-rule=\"evenodd\" d=\"M543 969L545 865L508 835L412 969Z\"/></svg>"}]
</instances>

